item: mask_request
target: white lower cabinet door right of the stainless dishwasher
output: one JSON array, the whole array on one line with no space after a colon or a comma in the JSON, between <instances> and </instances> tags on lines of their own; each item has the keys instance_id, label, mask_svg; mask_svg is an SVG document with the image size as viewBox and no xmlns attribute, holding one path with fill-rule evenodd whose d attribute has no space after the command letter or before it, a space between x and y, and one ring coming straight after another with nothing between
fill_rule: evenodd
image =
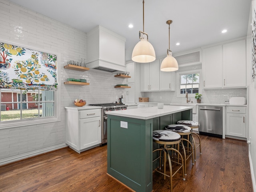
<instances>
[{"instance_id":1,"label":"white lower cabinet door right of the stainless dishwasher","mask_svg":"<svg viewBox=\"0 0 256 192\"><path fill-rule=\"evenodd\" d=\"M227 135L246 137L246 115L227 113Z\"/></svg>"}]
</instances>

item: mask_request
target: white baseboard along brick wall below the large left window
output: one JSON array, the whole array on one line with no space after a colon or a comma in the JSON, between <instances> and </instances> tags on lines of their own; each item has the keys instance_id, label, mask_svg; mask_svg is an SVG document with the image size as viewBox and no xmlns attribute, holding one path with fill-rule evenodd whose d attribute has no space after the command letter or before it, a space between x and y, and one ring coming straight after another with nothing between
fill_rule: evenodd
<instances>
[{"instance_id":1,"label":"white baseboard along brick wall below the large left window","mask_svg":"<svg viewBox=\"0 0 256 192\"><path fill-rule=\"evenodd\" d=\"M15 162L15 161L18 161L18 160L26 159L26 158L29 158L29 157L32 157L32 156L36 156L36 155L39 155L39 154L43 154L43 153L46 153L46 152L54 151L54 150L57 150L57 149L60 149L60 148L64 148L66 146L67 146L66 143L62 143L62 144L42 148L42 149L39 149L39 150L23 153L23 154L20 154L20 155L0 159L0 166L8 164L8 163Z\"/></svg>"}]
</instances>

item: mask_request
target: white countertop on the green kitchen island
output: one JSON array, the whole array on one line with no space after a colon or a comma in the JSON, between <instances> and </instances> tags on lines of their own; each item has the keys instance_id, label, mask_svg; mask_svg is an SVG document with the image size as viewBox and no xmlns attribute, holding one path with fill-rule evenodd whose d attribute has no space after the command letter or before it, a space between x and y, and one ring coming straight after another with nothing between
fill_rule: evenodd
<instances>
[{"instance_id":1,"label":"white countertop on the green kitchen island","mask_svg":"<svg viewBox=\"0 0 256 192\"><path fill-rule=\"evenodd\" d=\"M155 117L160 117L168 114L173 114L176 112L181 112L184 110L192 109L193 107L188 106L164 106L163 109L158 109L156 107L146 107L146 108L137 108L137 109L127 109L127 110L118 110L118 111L108 111L106 114L130 117L136 119L151 119Z\"/></svg>"}]
</instances>

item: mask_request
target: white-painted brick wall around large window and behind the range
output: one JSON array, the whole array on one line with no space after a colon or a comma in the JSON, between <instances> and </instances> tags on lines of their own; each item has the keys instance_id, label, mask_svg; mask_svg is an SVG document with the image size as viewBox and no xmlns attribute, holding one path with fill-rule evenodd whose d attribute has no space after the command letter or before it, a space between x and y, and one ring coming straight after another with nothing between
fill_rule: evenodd
<instances>
[{"instance_id":1,"label":"white-painted brick wall around large window and behind the range","mask_svg":"<svg viewBox=\"0 0 256 192\"><path fill-rule=\"evenodd\" d=\"M70 26L37 14L6 0L0 0L0 38L40 50L61 53L61 122L20 126L0 130L0 160L65 142L65 109L74 106L76 98L88 104L115 102L125 98L125 90L114 89L122 79L114 74L89 70L78 72L64 69L68 60L86 59L86 34ZM59 64L59 63L58 63ZM89 86L64 85L67 78L85 78ZM118 100L117 100L118 101Z\"/></svg>"}]
</instances>

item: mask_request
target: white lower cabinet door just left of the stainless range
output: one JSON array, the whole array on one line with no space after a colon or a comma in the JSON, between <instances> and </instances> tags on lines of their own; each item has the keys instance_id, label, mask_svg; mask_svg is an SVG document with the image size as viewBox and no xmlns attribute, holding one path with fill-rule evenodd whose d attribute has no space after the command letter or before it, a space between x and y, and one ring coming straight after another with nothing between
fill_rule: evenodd
<instances>
[{"instance_id":1,"label":"white lower cabinet door just left of the stainless range","mask_svg":"<svg viewBox=\"0 0 256 192\"><path fill-rule=\"evenodd\" d=\"M100 117L80 120L80 150L101 143Z\"/></svg>"}]
</instances>

